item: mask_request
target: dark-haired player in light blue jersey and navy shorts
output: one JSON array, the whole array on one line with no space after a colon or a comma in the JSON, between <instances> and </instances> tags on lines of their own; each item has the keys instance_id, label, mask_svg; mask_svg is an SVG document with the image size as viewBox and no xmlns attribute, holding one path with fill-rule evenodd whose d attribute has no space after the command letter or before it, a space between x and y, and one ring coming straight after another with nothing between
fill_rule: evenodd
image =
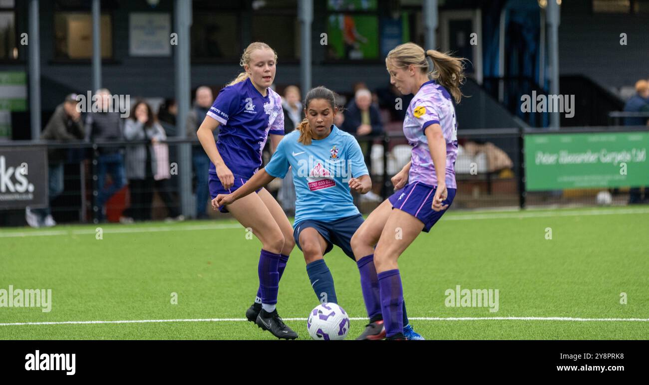
<instances>
[{"instance_id":1,"label":"dark-haired player in light blue jersey and navy shorts","mask_svg":"<svg viewBox=\"0 0 649 385\"><path fill-rule=\"evenodd\" d=\"M306 119L296 132L282 139L266 167L237 191L219 194L212 206L217 209L232 205L273 179L284 178L290 166L297 193L293 237L304 253L315 295L323 303L337 303L334 279L323 255L336 244L354 259L350 240L363 223L363 216L354 205L350 189L365 194L372 181L356 139L333 124L337 111L334 93L316 87L306 95L304 106ZM380 309L368 316L371 323L380 322ZM408 325L407 318L404 325ZM411 327L404 332L411 339L423 339ZM384 332L376 330L362 339L384 336Z\"/></svg>"}]
</instances>

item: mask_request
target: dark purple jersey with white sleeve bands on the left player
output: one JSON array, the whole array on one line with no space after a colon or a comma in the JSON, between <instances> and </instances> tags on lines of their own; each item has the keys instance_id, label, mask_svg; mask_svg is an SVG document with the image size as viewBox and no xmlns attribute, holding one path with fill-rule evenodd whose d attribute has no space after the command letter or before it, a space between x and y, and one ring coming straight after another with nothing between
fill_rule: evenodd
<instances>
[{"instance_id":1,"label":"dark purple jersey with white sleeve bands on the left player","mask_svg":"<svg viewBox=\"0 0 649 385\"><path fill-rule=\"evenodd\" d=\"M207 115L221 123L216 147L225 165L245 179L261 167L268 134L284 135L282 98L270 88L263 97L250 78L221 89Z\"/></svg>"}]
</instances>

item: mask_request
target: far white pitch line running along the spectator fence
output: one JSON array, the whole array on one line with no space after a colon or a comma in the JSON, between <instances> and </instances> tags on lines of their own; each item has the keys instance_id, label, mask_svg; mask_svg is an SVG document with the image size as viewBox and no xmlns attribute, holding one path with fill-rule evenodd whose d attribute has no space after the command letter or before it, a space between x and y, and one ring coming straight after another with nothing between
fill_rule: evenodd
<instances>
[{"instance_id":1,"label":"far white pitch line running along the spectator fence","mask_svg":"<svg viewBox=\"0 0 649 385\"><path fill-rule=\"evenodd\" d=\"M511 213L485 213L485 214L454 214L445 216L444 220L482 220L482 219L521 219L521 218L546 218L552 216L585 216L585 215L623 215L623 214L649 214L649 207L638 209L602 209L589 211L515 211ZM97 225L97 227L101 227ZM96 228L96 227L95 227ZM157 231L195 231L195 230L218 230L218 229L238 229L242 228L240 224L200 224L190 226L155 226L155 227L131 227L124 225L121 227L104 227L104 234L118 233L153 233ZM53 235L90 235L95 234L95 229L77 229L77 230L44 230L44 231L0 231L0 238L14 237L47 237Z\"/></svg>"}]
</instances>

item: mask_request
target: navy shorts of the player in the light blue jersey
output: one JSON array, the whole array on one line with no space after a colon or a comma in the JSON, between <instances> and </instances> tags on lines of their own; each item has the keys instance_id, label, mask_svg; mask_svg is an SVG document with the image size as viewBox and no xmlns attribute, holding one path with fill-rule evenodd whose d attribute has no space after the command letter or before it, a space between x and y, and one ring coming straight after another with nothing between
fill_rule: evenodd
<instances>
[{"instance_id":1,"label":"navy shorts of the player in the light blue jersey","mask_svg":"<svg viewBox=\"0 0 649 385\"><path fill-rule=\"evenodd\" d=\"M363 216L360 214L332 220L331 222L312 219L303 220L293 230L293 239L295 239L297 247L302 250L300 246L300 232L307 227L313 227L326 240L327 245L323 255L331 251L335 244L347 254L347 257L356 261L354 251L352 251L351 241L352 236L356 233L358 227L361 227L363 221Z\"/></svg>"}]
</instances>

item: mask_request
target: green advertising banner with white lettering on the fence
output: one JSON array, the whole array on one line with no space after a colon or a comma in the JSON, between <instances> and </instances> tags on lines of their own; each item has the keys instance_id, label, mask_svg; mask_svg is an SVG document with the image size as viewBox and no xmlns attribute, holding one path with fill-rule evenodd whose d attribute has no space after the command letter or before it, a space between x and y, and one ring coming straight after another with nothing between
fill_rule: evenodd
<instances>
[{"instance_id":1,"label":"green advertising banner with white lettering on the fence","mask_svg":"<svg viewBox=\"0 0 649 385\"><path fill-rule=\"evenodd\" d=\"M527 191L649 186L649 132L524 137Z\"/></svg>"}]
</instances>

